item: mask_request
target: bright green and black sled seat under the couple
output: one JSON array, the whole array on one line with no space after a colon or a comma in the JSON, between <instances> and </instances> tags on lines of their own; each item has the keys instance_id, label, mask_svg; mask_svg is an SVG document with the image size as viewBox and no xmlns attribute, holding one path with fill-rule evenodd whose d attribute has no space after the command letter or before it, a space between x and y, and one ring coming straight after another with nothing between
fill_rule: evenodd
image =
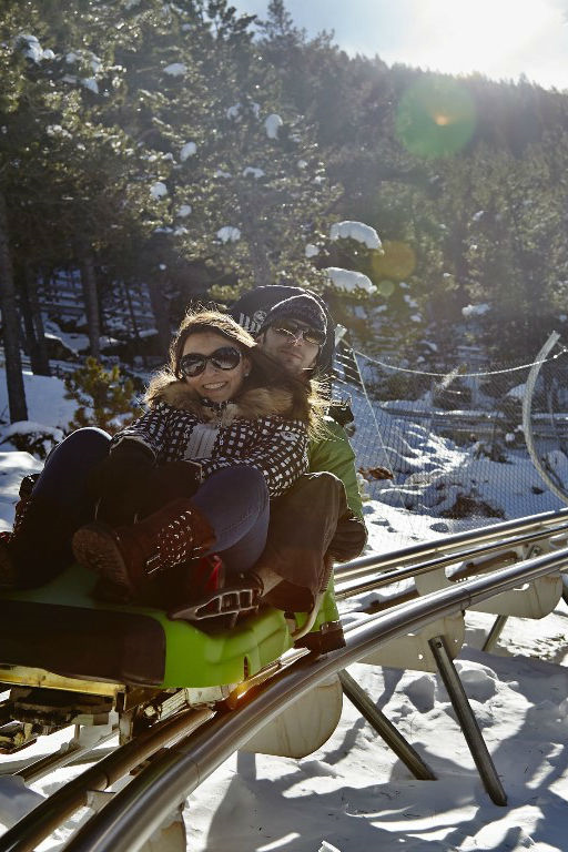
<instances>
[{"instance_id":1,"label":"bright green and black sled seat under the couple","mask_svg":"<svg viewBox=\"0 0 568 852\"><path fill-rule=\"evenodd\" d=\"M230 630L205 632L148 606L91 597L78 565L51 582L0 594L0 681L37 683L37 670L64 679L163 689L241 682L286 651L284 612L261 610Z\"/></svg>"}]
</instances>

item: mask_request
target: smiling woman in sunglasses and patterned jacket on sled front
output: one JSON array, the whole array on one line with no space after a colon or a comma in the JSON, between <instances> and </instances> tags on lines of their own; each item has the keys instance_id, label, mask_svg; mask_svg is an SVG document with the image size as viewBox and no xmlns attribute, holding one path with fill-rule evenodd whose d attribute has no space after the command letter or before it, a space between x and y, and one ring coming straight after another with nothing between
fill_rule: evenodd
<instances>
[{"instance_id":1,"label":"smiling woman in sunglasses and patterned jacket on sled front","mask_svg":"<svg viewBox=\"0 0 568 852\"><path fill-rule=\"evenodd\" d=\"M45 508L45 491L60 493L55 480L63 469L69 478L72 467L81 486L74 489L70 517L55 525L59 549L61 532L69 541L70 528L79 526L75 558L98 571L118 597L148 596L149 584L161 578L166 598L175 600L180 566L215 552L222 556L229 589L246 590L245 600L254 605L281 578L270 567L261 576L239 575L263 551L270 498L307 470L307 435L317 420L311 388L278 372L231 317L200 312L182 323L169 367L152 379L146 402L148 414L118 433L110 452L100 430L69 436L48 459L29 511L37 499ZM89 435L81 438L81 433ZM89 449L89 460L83 462L80 449ZM98 454L102 460L93 464ZM97 521L84 525L95 504ZM48 514L53 520L53 511ZM12 551L12 568L21 562L16 566L19 584L33 585L42 571L30 571L29 552L27 560L18 558L26 526L24 517L3 550Z\"/></svg>"}]
</instances>

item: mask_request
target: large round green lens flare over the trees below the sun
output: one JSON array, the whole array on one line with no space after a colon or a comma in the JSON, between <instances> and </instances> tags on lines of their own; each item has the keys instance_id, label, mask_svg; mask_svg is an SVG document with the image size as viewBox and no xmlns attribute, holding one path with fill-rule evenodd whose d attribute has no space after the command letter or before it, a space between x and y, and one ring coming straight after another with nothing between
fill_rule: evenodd
<instances>
[{"instance_id":1,"label":"large round green lens flare over the trees below the sun","mask_svg":"<svg viewBox=\"0 0 568 852\"><path fill-rule=\"evenodd\" d=\"M418 80L403 94L396 133L410 154L435 159L465 148L475 122L475 106L467 89L449 78L432 75Z\"/></svg>"}]
</instances>

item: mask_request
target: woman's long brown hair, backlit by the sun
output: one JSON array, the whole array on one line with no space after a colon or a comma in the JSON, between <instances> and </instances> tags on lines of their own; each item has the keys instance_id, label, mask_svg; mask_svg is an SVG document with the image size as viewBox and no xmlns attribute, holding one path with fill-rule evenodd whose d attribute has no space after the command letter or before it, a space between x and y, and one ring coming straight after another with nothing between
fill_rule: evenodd
<instances>
[{"instance_id":1,"label":"woman's long brown hair, backlit by the sun","mask_svg":"<svg viewBox=\"0 0 568 852\"><path fill-rule=\"evenodd\" d=\"M153 405L160 399L168 385L183 379L180 362L187 337L205 332L213 332L226 337L251 361L251 372L244 379L236 399L255 387L285 389L291 394L292 399L287 416L306 423L311 435L323 434L325 430L323 416L328 400L325 399L320 383L313 379L304 382L294 378L273 358L262 352L248 332L242 328L231 316L222 314L220 311L192 311L184 316L170 346L168 366L150 381L144 397L149 405Z\"/></svg>"}]
</instances>

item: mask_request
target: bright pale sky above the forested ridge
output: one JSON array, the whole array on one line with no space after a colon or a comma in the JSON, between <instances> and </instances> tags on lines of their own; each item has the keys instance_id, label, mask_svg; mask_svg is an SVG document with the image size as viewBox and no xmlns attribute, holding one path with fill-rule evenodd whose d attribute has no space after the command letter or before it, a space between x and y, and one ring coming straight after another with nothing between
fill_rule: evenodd
<instances>
[{"instance_id":1,"label":"bright pale sky above the forested ridge","mask_svg":"<svg viewBox=\"0 0 568 852\"><path fill-rule=\"evenodd\" d=\"M266 13L267 0L233 0L241 12ZM568 0L285 0L310 36L334 30L351 55L377 54L452 74L495 80L525 74L568 89Z\"/></svg>"}]
</instances>

